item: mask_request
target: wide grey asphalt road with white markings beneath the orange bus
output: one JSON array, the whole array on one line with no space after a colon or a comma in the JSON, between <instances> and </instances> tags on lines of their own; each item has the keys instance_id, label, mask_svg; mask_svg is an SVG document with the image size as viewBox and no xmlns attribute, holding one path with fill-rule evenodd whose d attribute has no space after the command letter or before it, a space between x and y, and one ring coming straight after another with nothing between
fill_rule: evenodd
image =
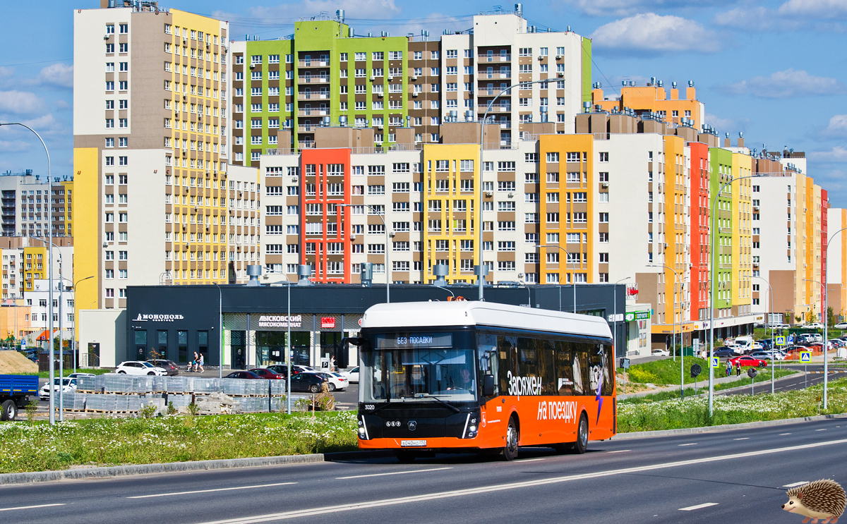
<instances>
[{"instance_id":1,"label":"wide grey asphalt road with white markings beneath the orange bus","mask_svg":"<svg viewBox=\"0 0 847 524\"><path fill-rule=\"evenodd\" d=\"M4 486L19 524L179 522L800 522L786 486L847 483L847 419L522 449Z\"/></svg>"}]
</instances>

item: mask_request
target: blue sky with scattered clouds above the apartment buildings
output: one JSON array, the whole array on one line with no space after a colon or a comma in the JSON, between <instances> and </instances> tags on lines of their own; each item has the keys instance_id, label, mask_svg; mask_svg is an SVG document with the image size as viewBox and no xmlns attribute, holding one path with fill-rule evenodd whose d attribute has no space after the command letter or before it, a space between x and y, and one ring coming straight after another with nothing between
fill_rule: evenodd
<instances>
[{"instance_id":1,"label":"blue sky with scattered clouds above the apartment buildings","mask_svg":"<svg viewBox=\"0 0 847 524\"><path fill-rule=\"evenodd\" d=\"M71 174L73 8L42 0L3 2L0 33L0 122L25 122L50 148L54 174ZM470 17L493 3L446 0L299 0L161 2L230 21L232 34L261 38L293 32L296 19L346 10L357 32L391 35L471 27ZM502 4L511 10L513 3ZM694 80L707 123L723 135L743 131L747 146L805 151L807 173L847 207L847 0L724 2L722 0L558 0L525 2L523 14L541 28L570 26L594 39L594 80L613 93L621 80L666 85ZM0 127L0 171L47 163L34 135Z\"/></svg>"}]
</instances>

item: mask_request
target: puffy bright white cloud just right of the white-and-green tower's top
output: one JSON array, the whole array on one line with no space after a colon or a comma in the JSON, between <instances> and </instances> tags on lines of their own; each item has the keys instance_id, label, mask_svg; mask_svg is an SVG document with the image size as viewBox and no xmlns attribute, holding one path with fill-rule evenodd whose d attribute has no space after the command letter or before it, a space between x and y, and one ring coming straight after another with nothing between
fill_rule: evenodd
<instances>
[{"instance_id":1,"label":"puffy bright white cloud just right of the white-and-green tower's top","mask_svg":"<svg viewBox=\"0 0 847 524\"><path fill-rule=\"evenodd\" d=\"M717 52L717 36L694 20L655 13L636 14L601 25L591 34L594 47L620 54Z\"/></svg>"}]
</instances>

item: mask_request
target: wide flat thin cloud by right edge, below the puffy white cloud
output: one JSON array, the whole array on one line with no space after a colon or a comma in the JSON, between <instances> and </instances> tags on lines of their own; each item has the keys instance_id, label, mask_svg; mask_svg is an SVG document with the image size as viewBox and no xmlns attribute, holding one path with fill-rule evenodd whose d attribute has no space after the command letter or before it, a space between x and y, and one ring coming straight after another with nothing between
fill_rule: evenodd
<instances>
[{"instance_id":1,"label":"wide flat thin cloud by right edge, below the puffy white cloud","mask_svg":"<svg viewBox=\"0 0 847 524\"><path fill-rule=\"evenodd\" d=\"M736 95L761 98L806 97L811 95L836 95L844 91L844 84L834 78L814 76L804 70L785 69L770 76L754 76L723 85L723 91Z\"/></svg>"}]
</instances>

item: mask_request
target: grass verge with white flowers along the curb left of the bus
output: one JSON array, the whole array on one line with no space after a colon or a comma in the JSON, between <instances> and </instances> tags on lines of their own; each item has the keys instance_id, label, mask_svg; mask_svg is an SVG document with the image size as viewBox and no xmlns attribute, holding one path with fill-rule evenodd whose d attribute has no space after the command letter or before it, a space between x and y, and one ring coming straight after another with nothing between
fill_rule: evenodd
<instances>
[{"instance_id":1,"label":"grass verge with white flowers along the curb left of the bus","mask_svg":"<svg viewBox=\"0 0 847 524\"><path fill-rule=\"evenodd\" d=\"M0 424L0 473L357 450L355 411Z\"/></svg>"}]
</instances>

